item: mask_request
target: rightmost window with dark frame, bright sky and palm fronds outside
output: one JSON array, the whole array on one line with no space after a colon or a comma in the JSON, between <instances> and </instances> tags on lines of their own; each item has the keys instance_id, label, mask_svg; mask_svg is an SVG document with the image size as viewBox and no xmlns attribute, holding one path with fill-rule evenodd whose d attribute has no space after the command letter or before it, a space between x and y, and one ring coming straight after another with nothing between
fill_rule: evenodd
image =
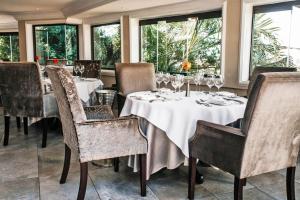
<instances>
[{"instance_id":1,"label":"rightmost window with dark frame, bright sky and palm fronds outside","mask_svg":"<svg viewBox=\"0 0 300 200\"><path fill-rule=\"evenodd\" d=\"M250 71L256 66L300 67L300 2L253 9Z\"/></svg>"}]
</instances>

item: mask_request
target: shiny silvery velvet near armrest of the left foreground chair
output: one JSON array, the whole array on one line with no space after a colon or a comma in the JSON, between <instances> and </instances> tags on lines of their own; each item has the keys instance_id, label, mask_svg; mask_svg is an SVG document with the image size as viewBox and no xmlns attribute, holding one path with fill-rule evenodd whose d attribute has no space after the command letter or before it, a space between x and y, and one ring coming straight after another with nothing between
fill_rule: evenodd
<instances>
[{"instance_id":1,"label":"shiny silvery velvet near armrest of the left foreground chair","mask_svg":"<svg viewBox=\"0 0 300 200\"><path fill-rule=\"evenodd\" d=\"M81 162L147 153L138 119L124 117L76 125Z\"/></svg>"}]
</instances>

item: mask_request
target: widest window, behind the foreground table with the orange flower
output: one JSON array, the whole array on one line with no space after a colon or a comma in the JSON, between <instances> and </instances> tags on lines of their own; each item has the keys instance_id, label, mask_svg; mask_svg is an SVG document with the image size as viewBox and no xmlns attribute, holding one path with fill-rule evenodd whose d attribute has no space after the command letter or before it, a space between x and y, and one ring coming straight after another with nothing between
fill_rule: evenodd
<instances>
[{"instance_id":1,"label":"widest window, behind the foreground table with the orange flower","mask_svg":"<svg viewBox=\"0 0 300 200\"><path fill-rule=\"evenodd\" d=\"M187 59L192 71L220 73L221 11L144 20L140 28L141 61L157 71L179 73Z\"/></svg>"}]
</instances>

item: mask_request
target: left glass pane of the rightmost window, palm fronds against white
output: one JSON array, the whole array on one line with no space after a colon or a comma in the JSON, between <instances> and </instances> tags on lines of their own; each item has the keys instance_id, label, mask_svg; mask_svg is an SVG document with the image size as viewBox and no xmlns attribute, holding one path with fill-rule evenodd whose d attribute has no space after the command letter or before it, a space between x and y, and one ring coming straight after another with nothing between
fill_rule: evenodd
<instances>
[{"instance_id":1,"label":"left glass pane of the rightmost window, palm fronds against white","mask_svg":"<svg viewBox=\"0 0 300 200\"><path fill-rule=\"evenodd\" d=\"M256 66L288 66L291 11L254 15L251 70Z\"/></svg>"}]
</instances>

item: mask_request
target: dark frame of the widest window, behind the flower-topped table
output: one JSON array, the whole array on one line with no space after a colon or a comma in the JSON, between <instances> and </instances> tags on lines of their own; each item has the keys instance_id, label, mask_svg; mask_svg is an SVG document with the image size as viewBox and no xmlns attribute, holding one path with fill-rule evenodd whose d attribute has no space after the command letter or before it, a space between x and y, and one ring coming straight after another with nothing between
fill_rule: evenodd
<instances>
[{"instance_id":1,"label":"dark frame of the widest window, behind the flower-topped table","mask_svg":"<svg viewBox=\"0 0 300 200\"><path fill-rule=\"evenodd\" d=\"M157 24L159 21L166 21L169 22L183 22L188 20L189 18L195 18L197 17L199 19L211 19L211 18L222 18L223 19L223 10L217 9L217 10L211 10L208 12L200 12L200 13L192 13L187 15L176 15L176 16L164 16L164 17L158 17L158 18L152 18L152 19L144 19L139 21L139 62L142 62L142 26L143 25L153 25ZM223 23L223 20L222 20ZM223 24L222 24L223 26ZM222 35L223 36L223 35ZM221 36L221 41L223 40ZM221 42L222 43L222 42ZM222 47L222 44L221 44ZM220 57L220 70L222 71L222 48L221 48L221 57Z\"/></svg>"}]
</instances>

